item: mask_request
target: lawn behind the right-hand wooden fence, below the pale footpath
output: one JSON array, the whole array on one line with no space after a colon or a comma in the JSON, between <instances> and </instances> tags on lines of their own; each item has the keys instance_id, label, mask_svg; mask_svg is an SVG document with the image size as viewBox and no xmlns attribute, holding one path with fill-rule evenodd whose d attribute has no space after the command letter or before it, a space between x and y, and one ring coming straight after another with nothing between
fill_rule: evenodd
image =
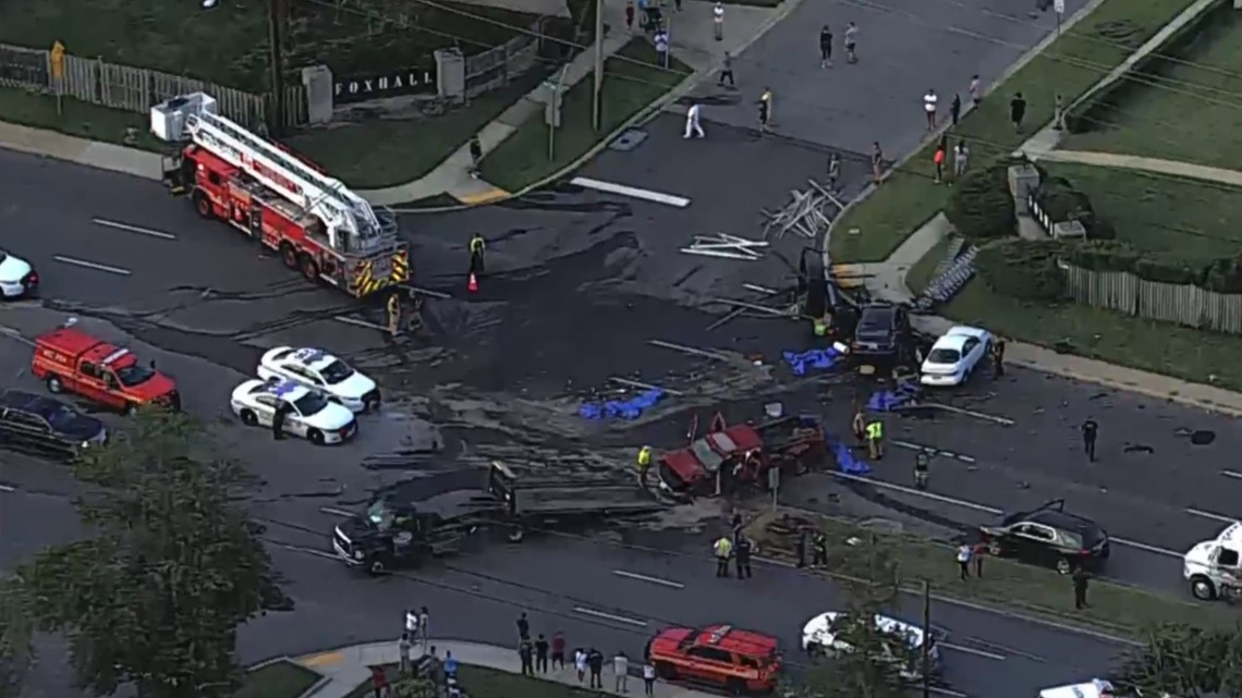
<instances>
[{"instance_id":1,"label":"lawn behind the right-hand wooden fence, below the pale footpath","mask_svg":"<svg viewBox=\"0 0 1242 698\"><path fill-rule=\"evenodd\" d=\"M1118 240L1187 260L1230 257L1242 250L1242 189L1122 168L1048 163L1087 194Z\"/></svg>"}]
</instances>

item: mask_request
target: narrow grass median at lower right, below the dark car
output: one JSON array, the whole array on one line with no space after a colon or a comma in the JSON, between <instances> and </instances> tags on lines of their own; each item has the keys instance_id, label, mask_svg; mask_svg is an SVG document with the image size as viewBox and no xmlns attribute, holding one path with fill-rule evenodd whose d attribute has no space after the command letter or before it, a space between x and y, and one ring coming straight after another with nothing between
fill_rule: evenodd
<instances>
[{"instance_id":1,"label":"narrow grass median at lower right, below the dark car","mask_svg":"<svg viewBox=\"0 0 1242 698\"><path fill-rule=\"evenodd\" d=\"M759 543L760 555L790 560L794 558L799 525L818 527L828 539L830 576L848 576L841 569L851 539L878 537L893 548L902 574L909 582L928 580L934 594L996 606L1005 612L1020 612L1100 630L1118 636L1141 635L1155 623L1185 622L1202 627L1233 627L1237 615L1218 607L1194 604L1095 579L1088 589L1089 609L1078 611L1073 604L1069 578L1054 570L1000 558L986 558L984 578L963 581L954 563L954 548L908 533L878 532L857 522L831 517L806 518L804 514L763 514L750 523L748 535ZM810 550L807 551L810 555Z\"/></svg>"}]
</instances>

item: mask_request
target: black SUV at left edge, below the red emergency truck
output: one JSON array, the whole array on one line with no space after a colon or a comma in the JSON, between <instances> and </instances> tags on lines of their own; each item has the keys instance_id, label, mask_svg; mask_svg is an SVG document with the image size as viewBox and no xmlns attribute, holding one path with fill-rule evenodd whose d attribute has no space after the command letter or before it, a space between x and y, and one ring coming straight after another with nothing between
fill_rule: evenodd
<instances>
[{"instance_id":1,"label":"black SUV at left edge, below the red emergency truck","mask_svg":"<svg viewBox=\"0 0 1242 698\"><path fill-rule=\"evenodd\" d=\"M108 440L103 422L34 392L0 392L0 443L22 451L75 457Z\"/></svg>"}]
</instances>

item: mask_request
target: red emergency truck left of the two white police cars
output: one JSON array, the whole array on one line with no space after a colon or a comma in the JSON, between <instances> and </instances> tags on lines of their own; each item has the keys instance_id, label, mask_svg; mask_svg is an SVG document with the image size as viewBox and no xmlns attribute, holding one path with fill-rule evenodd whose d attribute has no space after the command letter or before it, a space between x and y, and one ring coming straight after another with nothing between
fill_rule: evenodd
<instances>
[{"instance_id":1,"label":"red emergency truck left of the two white police cars","mask_svg":"<svg viewBox=\"0 0 1242 698\"><path fill-rule=\"evenodd\" d=\"M71 327L35 339L30 370L52 392L76 392L124 412L149 404L181 406L176 384L154 364Z\"/></svg>"}]
</instances>

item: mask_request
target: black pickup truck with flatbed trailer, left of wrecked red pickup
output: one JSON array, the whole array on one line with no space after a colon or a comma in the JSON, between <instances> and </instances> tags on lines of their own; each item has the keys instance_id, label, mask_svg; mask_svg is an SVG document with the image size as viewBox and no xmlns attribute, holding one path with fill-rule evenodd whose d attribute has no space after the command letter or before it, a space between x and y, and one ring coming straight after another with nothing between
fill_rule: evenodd
<instances>
[{"instance_id":1,"label":"black pickup truck with flatbed trailer, left of wrecked red pickup","mask_svg":"<svg viewBox=\"0 0 1242 698\"><path fill-rule=\"evenodd\" d=\"M668 503L637 478L519 478L493 462L486 491L457 491L417 502L381 497L366 512L337 525L332 546L345 564L381 574L412 568L461 550L473 534L503 529L509 542L528 528L658 512Z\"/></svg>"}]
</instances>

